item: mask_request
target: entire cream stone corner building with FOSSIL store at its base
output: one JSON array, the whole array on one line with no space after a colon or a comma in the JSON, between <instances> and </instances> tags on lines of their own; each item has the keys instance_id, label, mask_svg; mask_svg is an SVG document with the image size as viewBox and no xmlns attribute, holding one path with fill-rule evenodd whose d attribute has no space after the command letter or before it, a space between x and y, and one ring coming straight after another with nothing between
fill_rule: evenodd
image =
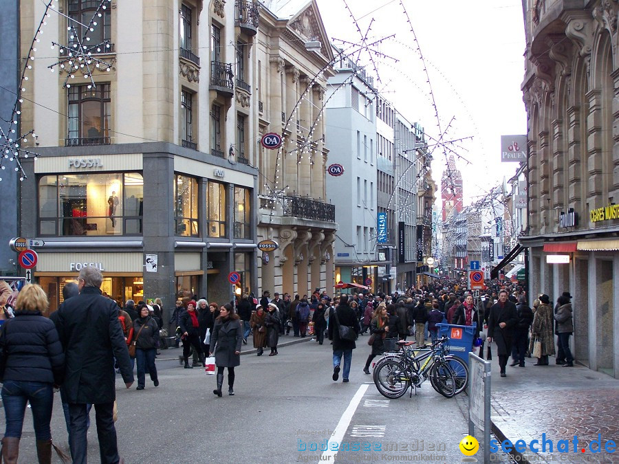
<instances>
[{"instance_id":1,"label":"entire cream stone corner building with FOSSIL store at its base","mask_svg":"<svg viewBox=\"0 0 619 464\"><path fill-rule=\"evenodd\" d=\"M22 56L44 7L21 2ZM56 46L33 61L22 113L41 156L25 163L20 225L44 241L34 278L52 310L89 264L119 302L223 303L237 291L232 271L239 293L257 291L257 4L60 1L58 10L41 37ZM97 24L82 30L91 17Z\"/></svg>"}]
</instances>

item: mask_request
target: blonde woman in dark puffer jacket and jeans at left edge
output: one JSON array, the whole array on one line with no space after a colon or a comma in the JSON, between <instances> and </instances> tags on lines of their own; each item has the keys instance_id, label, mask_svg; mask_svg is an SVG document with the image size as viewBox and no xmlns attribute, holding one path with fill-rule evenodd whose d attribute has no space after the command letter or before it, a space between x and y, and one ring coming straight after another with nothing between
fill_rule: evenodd
<instances>
[{"instance_id":1,"label":"blonde woman in dark puffer jacket and jeans at left edge","mask_svg":"<svg viewBox=\"0 0 619 464\"><path fill-rule=\"evenodd\" d=\"M39 285L26 285L17 296L15 317L4 322L0 331L6 417L2 457L6 463L17 463L27 401L32 408L39 462L52 462L54 385L63 383L65 355L54 322L41 316L48 305Z\"/></svg>"}]
</instances>

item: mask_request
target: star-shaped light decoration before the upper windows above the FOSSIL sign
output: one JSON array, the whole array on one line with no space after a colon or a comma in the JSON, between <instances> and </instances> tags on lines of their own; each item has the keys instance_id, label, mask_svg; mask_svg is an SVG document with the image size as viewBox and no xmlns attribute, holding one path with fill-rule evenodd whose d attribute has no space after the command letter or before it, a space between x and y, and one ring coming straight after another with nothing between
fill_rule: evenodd
<instances>
[{"instance_id":1,"label":"star-shaped light decoration before the upper windows above the FOSSIL sign","mask_svg":"<svg viewBox=\"0 0 619 464\"><path fill-rule=\"evenodd\" d=\"M78 72L81 72L85 79L90 80L88 88L96 87L92 74L96 69L105 70L109 72L112 67L112 63L108 63L105 60L100 60L94 54L107 53L111 47L109 38L106 38L101 43L96 45L90 45L89 33L94 32L94 28L98 25L98 21L103 16L103 12L107 10L111 0L100 0L99 5L94 12L92 19L86 25L80 23L74 18L65 16L69 21L67 31L69 32L69 45L61 45L56 42L52 42L52 49L58 47L60 49L61 57L56 63L48 66L52 72L56 66L60 68L60 72L65 71L67 77L63 83L63 87L71 87L69 80L74 79ZM83 27L84 33L80 36L78 32L78 26Z\"/></svg>"}]
</instances>

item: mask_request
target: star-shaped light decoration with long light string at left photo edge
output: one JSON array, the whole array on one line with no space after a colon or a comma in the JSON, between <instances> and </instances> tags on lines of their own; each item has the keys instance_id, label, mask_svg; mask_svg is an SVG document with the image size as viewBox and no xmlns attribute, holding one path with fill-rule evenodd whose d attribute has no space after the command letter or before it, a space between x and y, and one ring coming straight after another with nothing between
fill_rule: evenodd
<instances>
[{"instance_id":1,"label":"star-shaped light decoration with long light string at left photo edge","mask_svg":"<svg viewBox=\"0 0 619 464\"><path fill-rule=\"evenodd\" d=\"M34 61L34 52L36 52L36 44L41 42L41 34L43 34L43 26L47 25L47 18L50 15L50 9L54 8L54 3L58 0L49 0L45 5L45 12L43 18L39 23L39 27L36 28L36 34L32 38L32 44L28 51L28 56L25 58L23 69L21 70L21 80L19 82L19 88L17 89L17 98L13 105L11 117L9 120L2 119L6 124L0 125L0 181L2 180L2 173L6 170L8 162L15 162L13 170L19 173L19 180L26 179L23 166L21 165L22 158L38 157L38 153L28 151L21 146L22 143L28 142L28 137L32 135L36 138L34 129L26 133L21 133L21 104L23 103L22 94L26 91L25 85L28 82L28 71L32 69L32 61ZM3 129L3 127L6 129Z\"/></svg>"}]
</instances>

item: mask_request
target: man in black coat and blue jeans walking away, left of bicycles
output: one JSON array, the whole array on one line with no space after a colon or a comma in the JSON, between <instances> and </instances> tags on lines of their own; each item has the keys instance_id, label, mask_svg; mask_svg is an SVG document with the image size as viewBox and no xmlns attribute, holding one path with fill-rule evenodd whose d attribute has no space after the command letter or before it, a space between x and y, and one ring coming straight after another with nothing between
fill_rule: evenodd
<instances>
[{"instance_id":1,"label":"man in black coat and blue jeans walking away, left of bicycles","mask_svg":"<svg viewBox=\"0 0 619 464\"><path fill-rule=\"evenodd\" d=\"M359 335L359 320L357 315L348 305L348 296L340 296L340 304L329 314L329 340L333 340L333 379L337 380L340 376L340 363L344 357L344 370L342 372L342 382L348 382L350 364L352 361L352 351L356 349L354 340L340 339L338 322L341 325L351 327L357 336Z\"/></svg>"}]
</instances>

